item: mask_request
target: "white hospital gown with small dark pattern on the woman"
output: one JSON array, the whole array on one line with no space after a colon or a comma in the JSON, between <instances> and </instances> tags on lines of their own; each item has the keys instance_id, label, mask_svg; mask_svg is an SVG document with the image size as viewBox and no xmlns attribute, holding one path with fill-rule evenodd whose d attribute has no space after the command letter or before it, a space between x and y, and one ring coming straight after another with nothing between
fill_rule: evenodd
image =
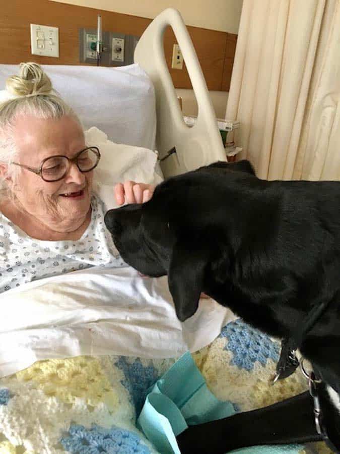
<instances>
[{"instance_id":1,"label":"white hospital gown with small dark pattern on the woman","mask_svg":"<svg viewBox=\"0 0 340 454\"><path fill-rule=\"evenodd\" d=\"M104 203L93 195L91 207L91 222L77 241L35 240L0 213L0 293L91 266L127 266L105 227Z\"/></svg>"}]
</instances>

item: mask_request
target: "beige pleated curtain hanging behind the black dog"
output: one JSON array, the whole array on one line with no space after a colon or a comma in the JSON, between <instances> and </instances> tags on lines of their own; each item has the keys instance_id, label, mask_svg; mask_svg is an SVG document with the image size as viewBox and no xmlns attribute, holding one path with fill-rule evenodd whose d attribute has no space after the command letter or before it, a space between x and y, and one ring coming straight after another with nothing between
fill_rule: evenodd
<instances>
[{"instance_id":1,"label":"beige pleated curtain hanging behind the black dog","mask_svg":"<svg viewBox=\"0 0 340 454\"><path fill-rule=\"evenodd\" d=\"M340 0L243 0L226 119L263 179L340 180Z\"/></svg>"}]
</instances>

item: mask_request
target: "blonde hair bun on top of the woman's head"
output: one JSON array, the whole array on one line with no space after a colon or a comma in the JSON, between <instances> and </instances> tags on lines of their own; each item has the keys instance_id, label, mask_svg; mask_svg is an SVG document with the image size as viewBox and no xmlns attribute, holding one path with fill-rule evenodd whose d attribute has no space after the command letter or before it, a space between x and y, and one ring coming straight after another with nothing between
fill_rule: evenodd
<instances>
[{"instance_id":1,"label":"blonde hair bun on top of the woman's head","mask_svg":"<svg viewBox=\"0 0 340 454\"><path fill-rule=\"evenodd\" d=\"M51 79L37 63L21 63L19 76L6 80L7 90L15 96L47 94L52 90Z\"/></svg>"}]
</instances>

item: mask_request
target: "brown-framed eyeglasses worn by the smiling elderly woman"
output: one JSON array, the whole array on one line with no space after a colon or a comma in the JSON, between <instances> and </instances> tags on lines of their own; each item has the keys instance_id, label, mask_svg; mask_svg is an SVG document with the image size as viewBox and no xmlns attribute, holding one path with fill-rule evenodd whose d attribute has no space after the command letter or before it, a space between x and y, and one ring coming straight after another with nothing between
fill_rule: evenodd
<instances>
[{"instance_id":1,"label":"brown-framed eyeglasses worn by the smiling elderly woman","mask_svg":"<svg viewBox=\"0 0 340 454\"><path fill-rule=\"evenodd\" d=\"M18 162L12 162L12 164L19 165L30 172L40 175L46 182L53 182L64 178L72 162L77 165L82 174L85 174L86 172L92 171L98 165L99 159L99 149L97 147L88 147L85 150L81 150L72 159L63 155L49 156L41 162L39 168L32 168Z\"/></svg>"}]
</instances>

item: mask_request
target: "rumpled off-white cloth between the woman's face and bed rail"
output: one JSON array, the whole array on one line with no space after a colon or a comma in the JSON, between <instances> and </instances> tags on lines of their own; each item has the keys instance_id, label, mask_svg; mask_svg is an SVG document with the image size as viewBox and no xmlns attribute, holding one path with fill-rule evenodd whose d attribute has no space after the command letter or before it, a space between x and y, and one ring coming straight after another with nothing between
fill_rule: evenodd
<instances>
[{"instance_id":1,"label":"rumpled off-white cloth between the woman's face and bed rail","mask_svg":"<svg viewBox=\"0 0 340 454\"><path fill-rule=\"evenodd\" d=\"M147 148L117 144L107 135L92 127L84 132L87 146L97 146L101 159L94 173L94 191L107 209L117 206L113 186L132 180L137 183L158 184L162 178L155 172L157 153Z\"/></svg>"}]
</instances>

